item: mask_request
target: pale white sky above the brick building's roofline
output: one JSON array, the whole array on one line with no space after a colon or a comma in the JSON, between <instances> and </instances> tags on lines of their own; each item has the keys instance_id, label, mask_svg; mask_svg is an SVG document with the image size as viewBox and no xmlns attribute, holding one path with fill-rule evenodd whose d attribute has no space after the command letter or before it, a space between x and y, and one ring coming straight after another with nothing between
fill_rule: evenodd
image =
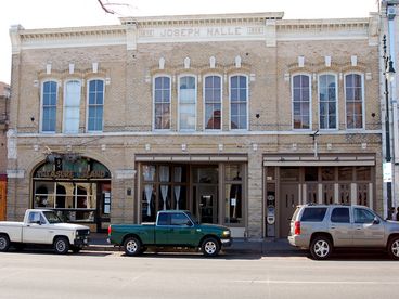
<instances>
[{"instance_id":1,"label":"pale white sky above the brick building's roofline","mask_svg":"<svg viewBox=\"0 0 399 299\"><path fill-rule=\"evenodd\" d=\"M0 8L0 81L10 82L9 28L26 29L119 24L120 16L284 12L284 18L366 17L376 0L103 0L118 14L106 14L98 0L5 0ZM129 5L127 5L129 4Z\"/></svg>"}]
</instances>

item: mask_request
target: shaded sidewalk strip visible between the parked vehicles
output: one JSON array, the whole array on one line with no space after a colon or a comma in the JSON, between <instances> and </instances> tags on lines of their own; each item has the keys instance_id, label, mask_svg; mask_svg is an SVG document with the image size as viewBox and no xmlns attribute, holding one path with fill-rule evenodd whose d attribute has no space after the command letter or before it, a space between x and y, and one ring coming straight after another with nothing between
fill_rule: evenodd
<instances>
[{"instance_id":1,"label":"shaded sidewalk strip visible between the parked vehicles","mask_svg":"<svg viewBox=\"0 0 399 299\"><path fill-rule=\"evenodd\" d=\"M114 247L106 242L106 234L90 234L90 245L87 250L93 251L119 251L119 247ZM124 249L120 248L123 251ZM235 255L272 255L272 256L298 256L304 255L303 250L289 245L286 238L268 238L248 240L234 238L231 247L223 249L227 253Z\"/></svg>"}]
</instances>

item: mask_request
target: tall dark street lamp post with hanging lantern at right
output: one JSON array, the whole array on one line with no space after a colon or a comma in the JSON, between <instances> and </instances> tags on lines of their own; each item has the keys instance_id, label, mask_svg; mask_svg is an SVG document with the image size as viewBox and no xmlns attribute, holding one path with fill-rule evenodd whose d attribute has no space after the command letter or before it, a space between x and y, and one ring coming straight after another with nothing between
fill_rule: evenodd
<instances>
[{"instance_id":1,"label":"tall dark street lamp post with hanging lantern at right","mask_svg":"<svg viewBox=\"0 0 399 299\"><path fill-rule=\"evenodd\" d=\"M383 50L384 50L384 63L385 63L385 168L391 173L391 157L390 157L390 127L389 127L389 83L395 78L394 62L386 51L386 35L383 37ZM384 182L387 183L387 216L388 219L392 218L392 179L384 178Z\"/></svg>"}]
</instances>

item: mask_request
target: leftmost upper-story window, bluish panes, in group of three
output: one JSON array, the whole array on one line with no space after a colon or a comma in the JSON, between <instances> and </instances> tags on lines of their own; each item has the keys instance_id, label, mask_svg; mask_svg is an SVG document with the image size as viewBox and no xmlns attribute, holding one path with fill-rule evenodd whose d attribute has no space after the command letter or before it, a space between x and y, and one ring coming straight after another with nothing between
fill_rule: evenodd
<instances>
[{"instance_id":1,"label":"leftmost upper-story window, bluish panes, in group of three","mask_svg":"<svg viewBox=\"0 0 399 299\"><path fill-rule=\"evenodd\" d=\"M56 125L56 91L57 84L55 81L46 81L42 84L41 101L41 131L55 132Z\"/></svg>"}]
</instances>

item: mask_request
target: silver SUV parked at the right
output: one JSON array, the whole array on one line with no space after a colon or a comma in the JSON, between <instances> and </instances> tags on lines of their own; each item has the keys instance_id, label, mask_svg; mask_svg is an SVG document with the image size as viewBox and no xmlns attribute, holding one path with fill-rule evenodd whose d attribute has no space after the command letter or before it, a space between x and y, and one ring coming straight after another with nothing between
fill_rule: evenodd
<instances>
[{"instance_id":1,"label":"silver SUV parked at the right","mask_svg":"<svg viewBox=\"0 0 399 299\"><path fill-rule=\"evenodd\" d=\"M327 259L335 247L384 248L399 259L399 222L363 206L304 205L291 220L289 244Z\"/></svg>"}]
</instances>

